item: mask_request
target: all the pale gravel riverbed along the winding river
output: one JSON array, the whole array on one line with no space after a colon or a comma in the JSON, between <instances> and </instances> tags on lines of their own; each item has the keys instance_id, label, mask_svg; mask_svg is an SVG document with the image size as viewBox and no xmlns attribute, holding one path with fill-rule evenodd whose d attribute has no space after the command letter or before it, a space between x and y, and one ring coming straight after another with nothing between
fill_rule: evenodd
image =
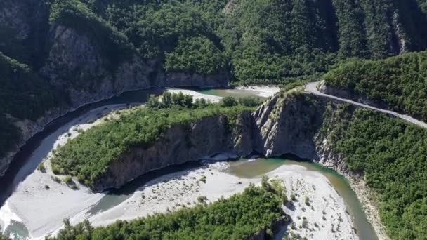
<instances>
[{"instance_id":1,"label":"all the pale gravel riverbed along the winding river","mask_svg":"<svg viewBox=\"0 0 427 240\"><path fill-rule=\"evenodd\" d=\"M218 99L212 97L211 100ZM86 121L86 124L77 122L67 133L59 136L53 147L65 144L68 138L74 138L105 117L114 118L112 110L122 107L103 107L91 112L90 117L86 116L84 120L93 120ZM105 116L108 112L110 114ZM22 222L30 237L42 239L46 234L57 232L64 218L70 218L73 224L89 219L96 226L108 225L118 219L130 220L195 206L199 204L200 196L206 196L207 202L216 201L242 192L249 183L258 185L261 182L261 177L239 178L228 172L227 162L216 162L156 178L128 196L114 196L93 194L78 184L79 189L71 189L63 182L55 182L49 165L46 164L47 173L34 171L28 175L0 208L2 227L13 221ZM357 239L343 199L324 175L293 165L280 166L267 175L284 181L288 199L291 199L291 194L295 196L291 204L284 206L284 211L294 222L287 227L289 234L299 234L308 239ZM108 198L107 206L96 210Z\"/></svg>"}]
</instances>

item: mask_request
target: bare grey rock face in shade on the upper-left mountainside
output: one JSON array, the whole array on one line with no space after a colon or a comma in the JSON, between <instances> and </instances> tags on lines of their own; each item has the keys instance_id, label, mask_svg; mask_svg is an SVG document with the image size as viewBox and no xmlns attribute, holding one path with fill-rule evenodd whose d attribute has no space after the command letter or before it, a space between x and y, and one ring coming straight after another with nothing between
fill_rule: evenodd
<instances>
[{"instance_id":1,"label":"bare grey rock face in shade on the upper-left mountainside","mask_svg":"<svg viewBox=\"0 0 427 240\"><path fill-rule=\"evenodd\" d=\"M41 73L69 91L73 107L150 86L150 67L136 55L110 69L87 36L62 25L53 32L53 45Z\"/></svg>"}]
</instances>

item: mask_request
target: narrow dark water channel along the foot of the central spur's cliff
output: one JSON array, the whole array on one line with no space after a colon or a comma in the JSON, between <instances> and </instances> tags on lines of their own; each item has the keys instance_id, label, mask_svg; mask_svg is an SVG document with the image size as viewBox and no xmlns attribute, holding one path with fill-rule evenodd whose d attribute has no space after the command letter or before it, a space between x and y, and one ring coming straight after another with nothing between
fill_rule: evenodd
<instances>
[{"instance_id":1,"label":"narrow dark water channel along the foot of the central spur's cliff","mask_svg":"<svg viewBox=\"0 0 427 240\"><path fill-rule=\"evenodd\" d=\"M183 175L187 175L193 168L202 167L203 164L200 161L191 161L184 164L167 166L159 170L150 171L141 175L140 177L132 180L131 182L126 183L123 187L119 189L110 189L110 191L103 196L97 204L92 206L86 213L89 215L95 215L97 213L102 213L107 211L114 206L121 204L122 202L129 199L136 190L141 189L142 187L149 187L147 182L160 178L161 176L167 175L169 173L176 173L179 171L183 172Z\"/></svg>"}]
</instances>

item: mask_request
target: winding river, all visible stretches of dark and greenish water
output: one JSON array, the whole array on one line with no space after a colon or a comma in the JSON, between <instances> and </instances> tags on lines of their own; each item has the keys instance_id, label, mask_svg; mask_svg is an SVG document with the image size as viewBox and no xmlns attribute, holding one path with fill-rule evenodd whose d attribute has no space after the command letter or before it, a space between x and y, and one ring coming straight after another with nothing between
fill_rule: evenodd
<instances>
[{"instance_id":1,"label":"winding river, all visible stretches of dark and greenish water","mask_svg":"<svg viewBox=\"0 0 427 240\"><path fill-rule=\"evenodd\" d=\"M0 192L0 206L6 202L11 194L13 194L16 187L20 185L28 175L31 175L34 172L37 165L53 148L55 140L57 140L60 135L67 133L72 126L90 121L94 116L102 116L107 112L111 112L113 109L121 109L129 104L143 103L147 100L150 94L159 93L162 93L162 90L152 89L127 92L109 100L103 100L80 107L79 109L52 121L51 124L46 126L44 131L34 135L33 138L27 141L27 143L21 148L21 151L15 156L13 164L4 178L0 178L0 186L2 186L2 190ZM257 96L259 98L261 95L261 98L265 98L262 91L258 89L213 89L198 91L198 93L216 95L220 97L230 95L237 98L248 95ZM94 112L97 112L98 114L94 114ZM101 112L101 114L99 114L99 112ZM350 185L348 185L346 179L334 171L308 161L291 161L284 159L257 159L256 161L247 161L247 159L244 159L239 161L230 161L230 168L228 169L228 172L233 175L237 175L239 178L255 178L283 165L304 166L310 171L316 171L326 176L334 189L336 189L336 192L342 196L346 207L352 216L355 225L354 227L360 239L376 239L374 230L369 222L367 222L366 215L364 215L364 212L362 211L362 207L357 196L350 188ZM121 204L123 201L126 201L126 199L129 199L138 187L145 185L146 182L157 178L159 175L182 171L183 169L194 168L195 166L200 166L200 163L183 164L181 166L165 168L160 171L153 171L152 173L133 180L121 189L105 194L100 201L97 201L96 204L88 209L87 213L88 215L95 215L97 213L107 211L108 209ZM2 224L1 220L0 224ZM25 225L16 220L11 220L11 224L4 229L4 232L6 234L11 234L14 239L26 239L30 236Z\"/></svg>"}]
</instances>

